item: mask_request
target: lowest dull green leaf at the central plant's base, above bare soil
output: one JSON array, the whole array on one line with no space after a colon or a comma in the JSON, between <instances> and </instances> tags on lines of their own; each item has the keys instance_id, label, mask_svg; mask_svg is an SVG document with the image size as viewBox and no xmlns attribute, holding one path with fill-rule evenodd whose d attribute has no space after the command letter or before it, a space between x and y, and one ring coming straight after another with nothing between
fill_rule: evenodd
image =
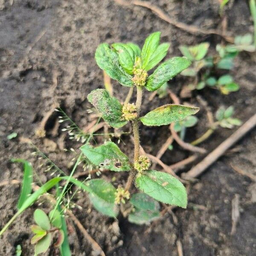
<instances>
[{"instance_id":1,"label":"lowest dull green leaf at the central plant's base, above bare soil","mask_svg":"<svg viewBox=\"0 0 256 256\"><path fill-rule=\"evenodd\" d=\"M134 224L143 225L143 224L150 224L151 221L160 218L159 211L146 211L135 209L134 212L131 212L128 215L128 221Z\"/></svg>"}]
</instances>

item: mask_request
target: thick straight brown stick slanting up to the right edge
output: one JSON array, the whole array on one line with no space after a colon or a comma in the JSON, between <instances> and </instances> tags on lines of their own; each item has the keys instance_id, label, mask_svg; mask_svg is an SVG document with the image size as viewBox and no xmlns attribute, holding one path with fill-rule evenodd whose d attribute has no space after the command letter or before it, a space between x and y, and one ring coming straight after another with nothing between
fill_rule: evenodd
<instances>
[{"instance_id":1,"label":"thick straight brown stick slanting up to the right edge","mask_svg":"<svg viewBox=\"0 0 256 256\"><path fill-rule=\"evenodd\" d=\"M201 175L212 163L214 163L227 149L241 139L248 131L256 125L256 114L254 114L247 122L245 122L238 130L236 130L227 140L224 140L215 150L207 155L200 163L194 166L189 172L183 175L185 178L195 178Z\"/></svg>"}]
</instances>

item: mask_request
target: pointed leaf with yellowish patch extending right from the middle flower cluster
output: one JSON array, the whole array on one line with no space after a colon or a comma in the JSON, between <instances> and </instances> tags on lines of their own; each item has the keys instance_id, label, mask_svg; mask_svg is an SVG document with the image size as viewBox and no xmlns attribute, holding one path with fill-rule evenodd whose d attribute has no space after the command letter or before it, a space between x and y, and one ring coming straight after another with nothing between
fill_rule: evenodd
<instances>
[{"instance_id":1,"label":"pointed leaf with yellowish patch extending right from the middle flower cluster","mask_svg":"<svg viewBox=\"0 0 256 256\"><path fill-rule=\"evenodd\" d=\"M184 105L169 104L156 108L148 112L145 116L140 117L143 125L160 126L169 125L193 115L199 111L199 108Z\"/></svg>"}]
</instances>

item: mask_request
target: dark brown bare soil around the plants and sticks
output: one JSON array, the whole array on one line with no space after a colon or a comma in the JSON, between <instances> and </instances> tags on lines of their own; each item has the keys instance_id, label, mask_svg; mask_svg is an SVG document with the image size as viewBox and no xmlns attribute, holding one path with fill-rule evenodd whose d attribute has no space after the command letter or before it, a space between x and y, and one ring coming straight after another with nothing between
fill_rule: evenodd
<instances>
[{"instance_id":1,"label":"dark brown bare soil around the plants and sticks","mask_svg":"<svg viewBox=\"0 0 256 256\"><path fill-rule=\"evenodd\" d=\"M150 2L186 24L205 29L221 28L218 0ZM57 116L53 114L46 125L46 138L57 143L57 148L52 148L49 141L35 137L35 130L56 103L61 104L79 127L87 125L90 104L86 96L91 90L103 87L102 71L94 60L98 44L133 41L142 46L149 33L161 31L161 40L171 43L167 56L170 57L180 55L177 49L180 44L209 41L210 52L214 52L215 45L222 40L216 35L191 35L161 20L148 9L119 6L112 0L1 0L0 10L0 181L22 179L22 168L11 164L11 157L31 161L41 180L49 178L49 174L39 168L36 157L31 155L33 147L20 142L20 137L31 139L61 169L70 171L68 164L72 154L60 149L64 132L61 128L57 133L52 132ZM233 35L253 32L247 1L231 0L226 14L227 30ZM256 111L255 54L241 53L231 73L241 86L238 92L223 96L206 88L193 92L193 97L187 101L200 106L195 98L199 94L209 102L213 111L219 105L234 105L236 116L245 122ZM179 93L185 82L186 79L178 76L170 84ZM123 100L128 88L116 82L113 85L115 96ZM160 100L157 97L148 102L149 96L150 93L145 93L143 113L170 102L168 98ZM198 117L200 121L187 133L187 141L206 131L204 109ZM7 140L6 136L13 131L19 137ZM201 146L210 151L232 133L233 130L221 128ZM169 131L167 126L142 127L141 134L145 150L156 154ZM120 147L132 156L128 149L129 137L122 139L126 145L121 142ZM79 148L80 145L64 140L65 147ZM168 151L162 157L164 163L175 163L191 154L176 144L174 146L176 151ZM237 143L236 148L239 149L236 153L221 157L197 183L190 185L188 209L176 209L175 216L166 214L150 227L130 224L121 217L114 220L102 216L92 208L85 194L75 198L83 209L75 209L74 213L106 255L176 256L177 239L183 245L184 256L256 255L256 184L234 172L230 166L232 163L256 174L255 129ZM109 174L103 177L111 178ZM16 212L19 192L19 185L0 187L0 228ZM240 198L241 216L236 233L231 236L231 202L236 194ZM194 204L204 207L199 209ZM32 237L30 225L37 205L27 209L0 238L0 255L15 255L17 244L21 245L23 255L34 255L33 246L29 244ZM41 205L42 209L47 206L46 203ZM74 228L69 236L73 255L93 255L90 244L76 226ZM48 255L54 255L52 250Z\"/></svg>"}]
</instances>

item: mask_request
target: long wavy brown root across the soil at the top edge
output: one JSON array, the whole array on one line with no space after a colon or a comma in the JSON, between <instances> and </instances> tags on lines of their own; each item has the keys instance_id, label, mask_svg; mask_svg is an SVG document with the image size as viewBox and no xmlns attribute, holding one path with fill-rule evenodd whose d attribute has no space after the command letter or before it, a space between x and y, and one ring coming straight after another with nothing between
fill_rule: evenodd
<instances>
[{"instance_id":1,"label":"long wavy brown root across the soil at the top edge","mask_svg":"<svg viewBox=\"0 0 256 256\"><path fill-rule=\"evenodd\" d=\"M124 1L122 1L122 2L124 2ZM131 3L133 3L134 5L137 5L137 6L143 6L145 8L150 9L162 20L165 20L168 23L172 24L173 26L175 26L179 29L183 29L186 32L189 32L191 34L205 34L205 35L215 34L215 35L220 35L221 37L225 38L225 40L227 40L230 43L234 42L234 39L231 36L221 32L221 31L218 31L215 29L200 29L193 25L187 25L185 23L178 22L177 20L172 19L168 15L166 15L159 7L154 6L146 1L133 0L133 1L131 1Z\"/></svg>"}]
</instances>

